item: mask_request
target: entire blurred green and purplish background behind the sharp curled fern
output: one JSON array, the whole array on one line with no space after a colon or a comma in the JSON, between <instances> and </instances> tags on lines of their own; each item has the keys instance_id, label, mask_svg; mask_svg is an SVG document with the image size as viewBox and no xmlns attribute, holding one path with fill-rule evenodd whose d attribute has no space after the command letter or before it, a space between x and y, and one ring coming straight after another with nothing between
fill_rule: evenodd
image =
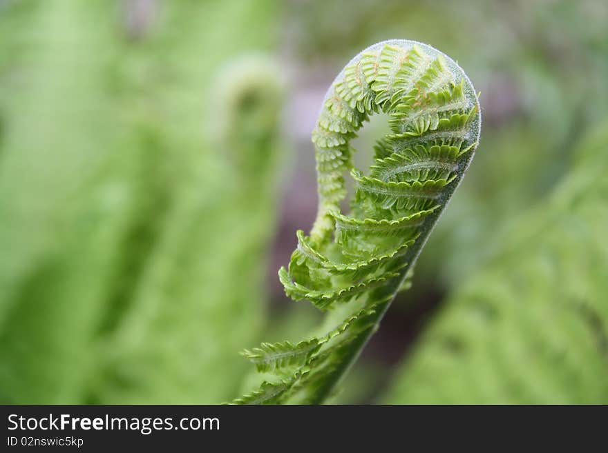
<instances>
[{"instance_id":1,"label":"entire blurred green and purplish background behind the sharp curled fern","mask_svg":"<svg viewBox=\"0 0 608 453\"><path fill-rule=\"evenodd\" d=\"M319 322L276 271L362 48L481 93L477 157L334 403L608 403L608 3L0 0L0 403L221 403ZM357 138L365 168L386 121Z\"/></svg>"}]
</instances>

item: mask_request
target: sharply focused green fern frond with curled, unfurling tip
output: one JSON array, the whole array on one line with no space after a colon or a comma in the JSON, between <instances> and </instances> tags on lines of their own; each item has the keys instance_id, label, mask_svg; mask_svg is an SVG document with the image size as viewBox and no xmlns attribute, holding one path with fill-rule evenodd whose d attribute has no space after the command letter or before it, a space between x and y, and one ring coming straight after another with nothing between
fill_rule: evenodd
<instances>
[{"instance_id":1,"label":"sharply focused green fern frond with curled, unfurling tip","mask_svg":"<svg viewBox=\"0 0 608 453\"><path fill-rule=\"evenodd\" d=\"M390 117L365 176L350 140L370 115ZM298 232L289 270L279 276L292 299L332 310L327 334L269 344L243 354L278 374L234 403L321 403L357 358L406 285L417 256L461 181L481 128L466 74L444 54L413 41L377 43L354 57L328 90L316 128L319 211ZM355 181L343 214L345 174Z\"/></svg>"}]
</instances>

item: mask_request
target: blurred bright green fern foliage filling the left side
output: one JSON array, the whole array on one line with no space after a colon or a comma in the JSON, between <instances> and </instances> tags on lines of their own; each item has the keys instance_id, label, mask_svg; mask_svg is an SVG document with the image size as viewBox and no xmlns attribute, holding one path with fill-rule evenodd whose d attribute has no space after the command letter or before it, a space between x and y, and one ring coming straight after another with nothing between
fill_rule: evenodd
<instances>
[{"instance_id":1,"label":"blurred bright green fern foliage filling the left side","mask_svg":"<svg viewBox=\"0 0 608 453\"><path fill-rule=\"evenodd\" d=\"M236 392L265 311L281 83L263 59L222 66L268 48L276 12L2 2L1 402Z\"/></svg>"}]
</instances>

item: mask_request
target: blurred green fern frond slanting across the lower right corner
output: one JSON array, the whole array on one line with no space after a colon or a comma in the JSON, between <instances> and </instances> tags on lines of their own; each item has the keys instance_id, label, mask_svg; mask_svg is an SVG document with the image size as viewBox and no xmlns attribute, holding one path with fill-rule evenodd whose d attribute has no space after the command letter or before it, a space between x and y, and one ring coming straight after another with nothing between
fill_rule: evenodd
<instances>
[{"instance_id":1,"label":"blurred green fern frond slanting across the lower right corner","mask_svg":"<svg viewBox=\"0 0 608 453\"><path fill-rule=\"evenodd\" d=\"M448 299L385 401L608 403L608 121Z\"/></svg>"}]
</instances>

